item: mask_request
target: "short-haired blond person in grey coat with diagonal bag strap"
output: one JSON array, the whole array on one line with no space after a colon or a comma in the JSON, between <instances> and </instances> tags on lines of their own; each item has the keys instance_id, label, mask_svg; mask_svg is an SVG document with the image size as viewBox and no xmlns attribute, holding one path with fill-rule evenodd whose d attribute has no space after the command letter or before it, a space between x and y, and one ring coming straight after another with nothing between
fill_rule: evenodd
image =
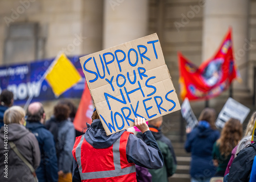
<instances>
[{"instance_id":1,"label":"short-haired blond person in grey coat with diagonal bag strap","mask_svg":"<svg viewBox=\"0 0 256 182\"><path fill-rule=\"evenodd\" d=\"M6 125L0 130L0 168L4 172L0 173L0 181L35 181L34 170L40 164L40 149L35 136L24 126L24 117L25 111L19 106L7 109L4 114Z\"/></svg>"}]
</instances>

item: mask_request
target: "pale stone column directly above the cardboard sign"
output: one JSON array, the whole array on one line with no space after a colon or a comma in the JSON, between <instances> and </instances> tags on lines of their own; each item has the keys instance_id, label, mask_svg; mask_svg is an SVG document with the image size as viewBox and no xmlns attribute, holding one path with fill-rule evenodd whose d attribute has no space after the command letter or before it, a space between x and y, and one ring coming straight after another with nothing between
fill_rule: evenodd
<instances>
[{"instance_id":1,"label":"pale stone column directly above the cardboard sign","mask_svg":"<svg viewBox=\"0 0 256 182\"><path fill-rule=\"evenodd\" d=\"M148 0L104 0L103 49L147 35Z\"/></svg>"}]
</instances>

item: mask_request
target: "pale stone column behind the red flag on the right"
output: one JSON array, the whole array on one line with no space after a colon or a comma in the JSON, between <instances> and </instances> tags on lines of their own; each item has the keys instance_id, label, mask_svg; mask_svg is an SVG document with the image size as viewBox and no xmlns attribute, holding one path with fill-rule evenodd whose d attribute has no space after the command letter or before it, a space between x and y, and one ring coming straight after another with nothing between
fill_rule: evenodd
<instances>
[{"instance_id":1,"label":"pale stone column behind the red flag on the right","mask_svg":"<svg viewBox=\"0 0 256 182\"><path fill-rule=\"evenodd\" d=\"M229 27L232 27L233 55L243 80L235 89L247 88L249 0L205 0L202 61L216 53Z\"/></svg>"}]
</instances>

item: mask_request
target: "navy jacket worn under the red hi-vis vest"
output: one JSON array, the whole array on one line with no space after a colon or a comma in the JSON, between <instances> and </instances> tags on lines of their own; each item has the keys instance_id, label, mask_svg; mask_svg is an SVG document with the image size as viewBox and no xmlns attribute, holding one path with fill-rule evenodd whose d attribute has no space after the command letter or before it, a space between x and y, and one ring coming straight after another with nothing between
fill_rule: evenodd
<instances>
[{"instance_id":1,"label":"navy jacket worn under the red hi-vis vest","mask_svg":"<svg viewBox=\"0 0 256 182\"><path fill-rule=\"evenodd\" d=\"M107 148L123 134L124 131L106 136L103 125L99 119L93 120L92 125L88 124L84 139L94 148ZM126 158L129 163L135 163L138 166L159 169L163 167L163 156L157 145L157 142L151 131L146 131L142 139L135 135L129 135L126 145ZM77 162L73 163L73 182L81 181Z\"/></svg>"}]
</instances>

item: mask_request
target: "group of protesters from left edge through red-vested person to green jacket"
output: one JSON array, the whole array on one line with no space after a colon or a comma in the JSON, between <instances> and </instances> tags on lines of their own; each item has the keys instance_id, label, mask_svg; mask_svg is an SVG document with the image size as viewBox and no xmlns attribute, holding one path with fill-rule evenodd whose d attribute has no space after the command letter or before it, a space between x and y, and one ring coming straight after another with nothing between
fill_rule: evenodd
<instances>
[{"instance_id":1,"label":"group of protesters from left edge through red-vested person to green jacket","mask_svg":"<svg viewBox=\"0 0 256 182\"><path fill-rule=\"evenodd\" d=\"M0 181L168 181L175 173L177 161L161 133L162 117L150 127L144 118L135 118L141 139L127 131L106 136L95 110L83 135L74 128L76 107L70 100L60 100L49 120L40 102L25 111L12 106L8 90L0 100L0 160L6 160L0 163Z\"/></svg>"}]
</instances>

